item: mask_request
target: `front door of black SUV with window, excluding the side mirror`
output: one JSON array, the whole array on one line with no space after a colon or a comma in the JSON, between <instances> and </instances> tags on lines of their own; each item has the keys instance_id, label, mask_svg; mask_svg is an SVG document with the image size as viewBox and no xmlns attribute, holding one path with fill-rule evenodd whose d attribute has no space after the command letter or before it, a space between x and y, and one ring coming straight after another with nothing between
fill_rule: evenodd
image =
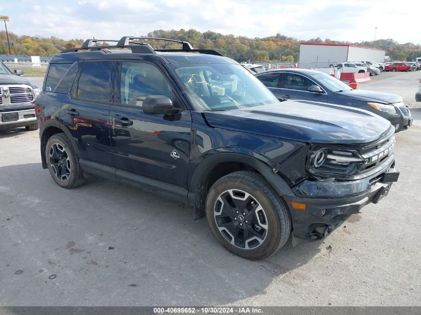
<instances>
[{"instance_id":1,"label":"front door of black SUV with window, excluding the side mirror","mask_svg":"<svg viewBox=\"0 0 421 315\"><path fill-rule=\"evenodd\" d=\"M110 109L111 146L115 167L148 179L187 188L191 114L146 114L142 102L149 95L181 103L156 65L121 62L117 67L116 103Z\"/></svg>"}]
</instances>

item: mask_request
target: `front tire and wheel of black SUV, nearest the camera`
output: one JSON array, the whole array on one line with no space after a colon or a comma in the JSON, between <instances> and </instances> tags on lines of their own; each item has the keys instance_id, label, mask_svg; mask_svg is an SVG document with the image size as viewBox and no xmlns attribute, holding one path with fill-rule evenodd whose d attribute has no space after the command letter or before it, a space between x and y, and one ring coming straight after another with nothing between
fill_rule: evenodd
<instances>
[{"instance_id":1,"label":"front tire and wheel of black SUV, nearest the camera","mask_svg":"<svg viewBox=\"0 0 421 315\"><path fill-rule=\"evenodd\" d=\"M284 202L254 172L235 172L216 181L206 199L206 216L222 246L251 260L277 252L291 233Z\"/></svg>"}]
</instances>

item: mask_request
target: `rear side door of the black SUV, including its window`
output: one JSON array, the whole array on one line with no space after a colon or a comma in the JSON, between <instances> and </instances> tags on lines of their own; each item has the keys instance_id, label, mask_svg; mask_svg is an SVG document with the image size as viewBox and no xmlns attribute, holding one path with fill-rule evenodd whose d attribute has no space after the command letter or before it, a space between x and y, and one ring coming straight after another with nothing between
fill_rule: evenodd
<instances>
[{"instance_id":1,"label":"rear side door of the black SUV, including its window","mask_svg":"<svg viewBox=\"0 0 421 315\"><path fill-rule=\"evenodd\" d=\"M113 99L112 70L116 62L87 61L63 101L60 122L77 146L80 158L113 165L109 112Z\"/></svg>"}]
</instances>

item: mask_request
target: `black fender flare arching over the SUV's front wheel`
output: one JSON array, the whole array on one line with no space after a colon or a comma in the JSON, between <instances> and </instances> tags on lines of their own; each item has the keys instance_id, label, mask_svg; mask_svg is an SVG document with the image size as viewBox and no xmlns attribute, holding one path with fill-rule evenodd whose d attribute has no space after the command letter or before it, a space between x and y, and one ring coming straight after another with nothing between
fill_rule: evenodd
<instances>
[{"instance_id":1,"label":"black fender flare arching over the SUV's front wheel","mask_svg":"<svg viewBox=\"0 0 421 315\"><path fill-rule=\"evenodd\" d=\"M231 151L232 150L232 151ZM275 162L268 159L267 157L245 149L240 148L219 148L214 150L207 158L200 162L189 181L189 204L194 206L194 219L201 218L204 216L204 195L207 195L207 191L200 192L202 180L209 169L212 169L216 165L224 162L237 162L245 163L256 169L275 189L280 196L295 197L291 188L286 184L279 174L279 170L276 168ZM198 191L199 190L199 191Z\"/></svg>"}]
</instances>

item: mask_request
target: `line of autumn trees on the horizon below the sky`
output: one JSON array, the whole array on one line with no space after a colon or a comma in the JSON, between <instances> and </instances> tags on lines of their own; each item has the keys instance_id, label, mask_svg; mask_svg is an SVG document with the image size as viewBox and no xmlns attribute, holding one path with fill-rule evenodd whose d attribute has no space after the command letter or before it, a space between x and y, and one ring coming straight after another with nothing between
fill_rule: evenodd
<instances>
[{"instance_id":1,"label":"line of autumn trees on the horizon below the sky","mask_svg":"<svg viewBox=\"0 0 421 315\"><path fill-rule=\"evenodd\" d=\"M323 40L317 37L315 39L303 41L281 35L280 33L275 36L264 38L249 38L232 34L223 35L212 31L201 33L195 29L159 29L148 33L146 36L188 41L194 48L214 49L239 62L298 62L300 42L353 44L357 46L379 48L386 50L386 55L389 55L392 60L411 61L413 58L421 57L421 45L416 45L414 43L399 44L393 39L378 39L374 42L349 42L331 40L329 38ZM48 38L28 35L18 36L12 32L9 32L9 41L13 43L13 46L10 46L12 54L35 56L51 56L66 48L80 47L83 43L83 39L79 38L64 40L55 36ZM6 42L5 31L0 31L0 54L8 54ZM172 42L151 40L149 43L155 49L180 48L179 44ZM102 43L98 44L100 45Z\"/></svg>"}]
</instances>

